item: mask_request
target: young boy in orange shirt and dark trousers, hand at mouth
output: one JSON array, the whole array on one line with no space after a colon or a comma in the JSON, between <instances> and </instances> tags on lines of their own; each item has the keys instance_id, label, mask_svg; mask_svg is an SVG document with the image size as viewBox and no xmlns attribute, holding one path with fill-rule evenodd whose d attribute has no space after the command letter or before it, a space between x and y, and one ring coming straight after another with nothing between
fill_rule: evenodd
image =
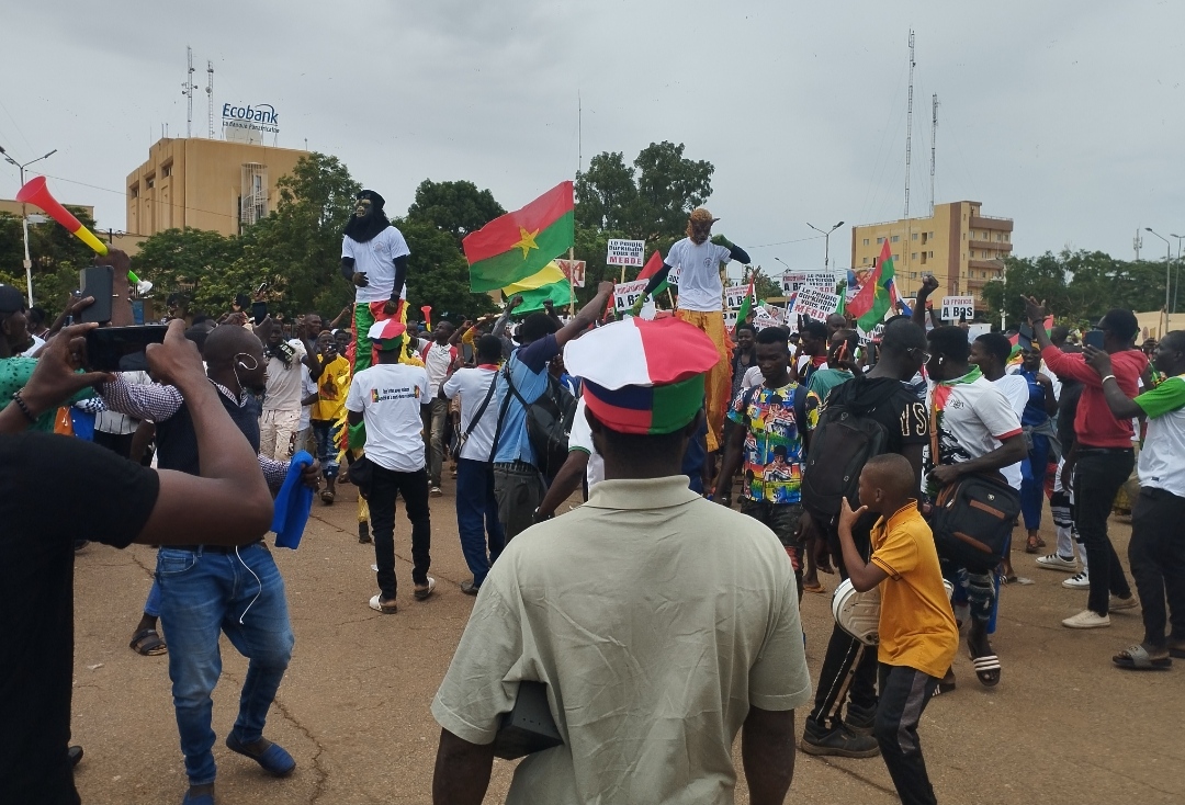
<instances>
[{"instance_id":1,"label":"young boy in orange shirt and dark trousers, hand at mouth","mask_svg":"<svg viewBox=\"0 0 1185 805\"><path fill-rule=\"evenodd\" d=\"M876 456L860 472L863 505L853 511L845 500L839 515L839 541L852 586L858 592L880 586L880 701L873 734L907 805L937 801L917 723L959 649L934 536L912 494L909 462L897 453ZM852 524L865 510L880 515L872 527L867 564L852 541Z\"/></svg>"}]
</instances>

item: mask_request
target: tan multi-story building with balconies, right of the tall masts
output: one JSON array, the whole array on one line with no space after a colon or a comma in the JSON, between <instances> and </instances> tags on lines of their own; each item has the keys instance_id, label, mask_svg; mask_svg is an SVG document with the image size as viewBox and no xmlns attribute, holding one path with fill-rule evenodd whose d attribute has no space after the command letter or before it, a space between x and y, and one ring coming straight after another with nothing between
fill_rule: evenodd
<instances>
[{"instance_id":1,"label":"tan multi-story building with balconies, right of the tall masts","mask_svg":"<svg viewBox=\"0 0 1185 805\"><path fill-rule=\"evenodd\" d=\"M1004 257L1012 253L1012 219L985 215L979 201L934 205L927 218L908 218L852 227L852 271L863 279L875 268L885 240L892 249L897 290L917 292L934 275L943 296L974 296L1004 276ZM935 300L937 301L937 300Z\"/></svg>"}]
</instances>

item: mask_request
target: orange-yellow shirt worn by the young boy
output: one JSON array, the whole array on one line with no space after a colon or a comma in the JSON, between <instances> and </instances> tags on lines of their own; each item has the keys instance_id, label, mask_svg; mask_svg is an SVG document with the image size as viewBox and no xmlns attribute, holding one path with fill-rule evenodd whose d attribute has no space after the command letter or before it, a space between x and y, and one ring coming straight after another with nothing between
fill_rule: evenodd
<instances>
[{"instance_id":1,"label":"orange-yellow shirt worn by the young boy","mask_svg":"<svg viewBox=\"0 0 1185 805\"><path fill-rule=\"evenodd\" d=\"M942 584L930 527L910 501L872 527L872 564L880 582L877 659L942 677L959 650L959 627Z\"/></svg>"}]
</instances>

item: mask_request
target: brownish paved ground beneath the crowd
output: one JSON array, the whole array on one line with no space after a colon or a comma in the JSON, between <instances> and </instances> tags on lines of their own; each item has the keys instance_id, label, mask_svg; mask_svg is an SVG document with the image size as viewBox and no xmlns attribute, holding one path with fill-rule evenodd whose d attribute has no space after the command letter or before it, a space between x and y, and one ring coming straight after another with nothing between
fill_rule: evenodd
<instances>
[{"instance_id":1,"label":"brownish paved ground beneath the crowd","mask_svg":"<svg viewBox=\"0 0 1185 805\"><path fill-rule=\"evenodd\" d=\"M399 612L366 606L377 592L371 546L358 543L354 489L333 507L314 503L296 552L276 550L288 586L296 646L268 722L268 738L296 758L295 774L268 778L223 745L235 720L245 661L223 639L225 669L214 694L214 756L220 805L406 803L431 800L440 728L429 704L473 606L451 498L433 505L437 594L411 597L409 526L396 526ZM1053 543L1045 516L1045 539ZM1128 527L1113 519L1126 556ZM1018 529L1017 534L1021 534ZM1023 546L1023 539L1019 541ZM1115 650L1138 643L1139 610L1112 614L1112 627L1075 632L1061 619L1085 605L1065 574L1013 554L1036 581L1001 593L994 646L1004 664L994 690L981 688L966 649L955 661L957 690L928 708L921 735L942 803L1185 801L1185 661L1168 672L1112 666ZM155 553L92 545L76 565L75 742L85 748L77 781L84 803L179 803L186 787L173 720L166 656L128 649ZM835 577L821 577L828 590ZM802 603L807 657L816 677L831 629L830 595ZM248 614L250 617L250 614ZM165 635L168 638L168 635ZM805 716L802 711L800 716ZM736 751L739 768L739 752ZM495 761L488 803L502 800L513 764ZM743 779L737 801L747 803ZM879 758L822 760L799 753L787 801L897 801Z\"/></svg>"}]
</instances>

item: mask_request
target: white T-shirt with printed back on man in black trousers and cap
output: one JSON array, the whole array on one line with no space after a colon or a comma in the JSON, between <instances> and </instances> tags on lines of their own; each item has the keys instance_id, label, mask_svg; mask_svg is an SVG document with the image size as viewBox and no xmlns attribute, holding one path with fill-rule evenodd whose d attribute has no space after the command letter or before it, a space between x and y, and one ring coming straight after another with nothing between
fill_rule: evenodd
<instances>
[{"instance_id":1,"label":"white T-shirt with printed back on man in black trousers and cap","mask_svg":"<svg viewBox=\"0 0 1185 805\"><path fill-rule=\"evenodd\" d=\"M422 366L376 363L356 374L346 410L361 412L366 423L366 457L392 472L424 469L419 408L429 399Z\"/></svg>"}]
</instances>

